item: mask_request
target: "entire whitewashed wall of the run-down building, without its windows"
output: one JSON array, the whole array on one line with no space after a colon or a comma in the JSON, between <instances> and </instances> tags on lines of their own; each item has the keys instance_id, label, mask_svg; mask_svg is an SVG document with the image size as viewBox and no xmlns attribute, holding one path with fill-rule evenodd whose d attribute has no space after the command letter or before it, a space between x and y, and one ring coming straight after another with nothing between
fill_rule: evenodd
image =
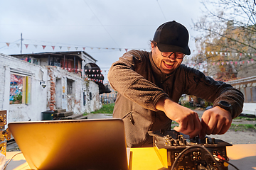
<instances>
[{"instance_id":1,"label":"entire whitewashed wall of the run-down building, without its windows","mask_svg":"<svg viewBox=\"0 0 256 170\"><path fill-rule=\"evenodd\" d=\"M31 103L9 103L11 72L18 72L31 77ZM58 90L60 94L56 95L54 91L54 98L51 98L50 86L55 87L56 79L59 79L58 88L60 89ZM75 82L73 95L67 94L67 79L72 79ZM42 80L46 82L46 88L41 86L40 82ZM83 105L83 92L86 94L85 106ZM90 92L92 93L91 100L89 98ZM75 114L90 113L102 107L99 98L99 87L95 82L87 81L79 77L78 74L67 72L60 67L41 67L15 57L0 54L0 110L7 111L7 123L42 120L41 112L50 110L50 101L55 102L55 97L60 99L58 101L60 108L73 111Z\"/></svg>"}]
</instances>

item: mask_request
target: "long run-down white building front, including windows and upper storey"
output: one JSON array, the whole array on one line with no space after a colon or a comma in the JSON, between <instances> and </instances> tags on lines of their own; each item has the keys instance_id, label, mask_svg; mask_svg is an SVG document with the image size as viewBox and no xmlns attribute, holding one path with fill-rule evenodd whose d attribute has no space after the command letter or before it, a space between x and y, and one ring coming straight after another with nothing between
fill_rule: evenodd
<instances>
[{"instance_id":1,"label":"long run-down white building front, including windows and upper storey","mask_svg":"<svg viewBox=\"0 0 256 170\"><path fill-rule=\"evenodd\" d=\"M79 55L80 60L63 60L67 67L61 67L61 60L54 62L50 55L22 58L0 54L0 110L7 111L7 123L42 120L41 112L48 110L66 109L81 114L100 109L99 86L86 79L82 68L86 62L96 60L84 52Z\"/></svg>"}]
</instances>

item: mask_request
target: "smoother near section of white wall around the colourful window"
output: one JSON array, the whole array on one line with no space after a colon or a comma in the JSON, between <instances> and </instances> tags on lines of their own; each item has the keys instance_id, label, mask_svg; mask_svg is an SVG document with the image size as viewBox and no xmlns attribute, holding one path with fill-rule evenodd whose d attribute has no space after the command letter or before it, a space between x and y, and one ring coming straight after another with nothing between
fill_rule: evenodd
<instances>
[{"instance_id":1,"label":"smoother near section of white wall around the colourful window","mask_svg":"<svg viewBox=\"0 0 256 170\"><path fill-rule=\"evenodd\" d=\"M9 104L10 74L18 72L31 77L31 103ZM7 123L15 121L41 120L41 112L46 111L47 89L40 81L46 81L47 69L36 64L0 54L0 110L7 111Z\"/></svg>"}]
</instances>

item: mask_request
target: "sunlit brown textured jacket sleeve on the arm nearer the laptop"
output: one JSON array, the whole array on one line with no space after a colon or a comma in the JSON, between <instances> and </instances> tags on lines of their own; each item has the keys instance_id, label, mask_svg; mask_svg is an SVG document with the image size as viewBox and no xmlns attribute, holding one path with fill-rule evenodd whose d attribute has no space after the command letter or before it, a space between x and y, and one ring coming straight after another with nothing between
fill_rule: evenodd
<instances>
[{"instance_id":1,"label":"sunlit brown textured jacket sleeve on the arm nearer the laptop","mask_svg":"<svg viewBox=\"0 0 256 170\"><path fill-rule=\"evenodd\" d=\"M149 61L146 60L147 55L149 55L148 52L135 50L125 53L112 64L107 78L110 81L110 86L125 98L146 109L157 111L156 102L162 96L168 95L136 72L137 69L141 69L139 67L150 67Z\"/></svg>"}]
</instances>

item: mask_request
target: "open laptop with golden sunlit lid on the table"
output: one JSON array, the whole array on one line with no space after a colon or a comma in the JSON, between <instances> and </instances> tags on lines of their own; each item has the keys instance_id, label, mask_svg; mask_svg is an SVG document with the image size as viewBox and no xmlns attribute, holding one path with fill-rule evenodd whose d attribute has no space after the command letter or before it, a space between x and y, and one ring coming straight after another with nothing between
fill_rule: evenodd
<instances>
[{"instance_id":1,"label":"open laptop with golden sunlit lid on the table","mask_svg":"<svg viewBox=\"0 0 256 170\"><path fill-rule=\"evenodd\" d=\"M128 169L120 119L47 120L8 126L31 169Z\"/></svg>"}]
</instances>

